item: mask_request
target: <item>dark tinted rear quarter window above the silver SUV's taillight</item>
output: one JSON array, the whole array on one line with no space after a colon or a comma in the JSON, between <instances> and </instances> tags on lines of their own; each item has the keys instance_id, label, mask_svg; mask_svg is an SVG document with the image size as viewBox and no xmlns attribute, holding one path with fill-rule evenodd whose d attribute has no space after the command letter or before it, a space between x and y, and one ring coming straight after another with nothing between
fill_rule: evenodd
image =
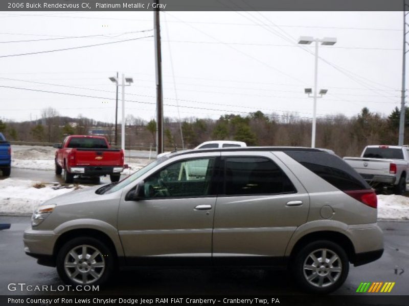
<instances>
[{"instance_id":1,"label":"dark tinted rear quarter window above the silver SUV's taillight","mask_svg":"<svg viewBox=\"0 0 409 306\"><path fill-rule=\"evenodd\" d=\"M285 153L340 190L371 189L368 183L338 156L327 152L285 151Z\"/></svg>"}]
</instances>

